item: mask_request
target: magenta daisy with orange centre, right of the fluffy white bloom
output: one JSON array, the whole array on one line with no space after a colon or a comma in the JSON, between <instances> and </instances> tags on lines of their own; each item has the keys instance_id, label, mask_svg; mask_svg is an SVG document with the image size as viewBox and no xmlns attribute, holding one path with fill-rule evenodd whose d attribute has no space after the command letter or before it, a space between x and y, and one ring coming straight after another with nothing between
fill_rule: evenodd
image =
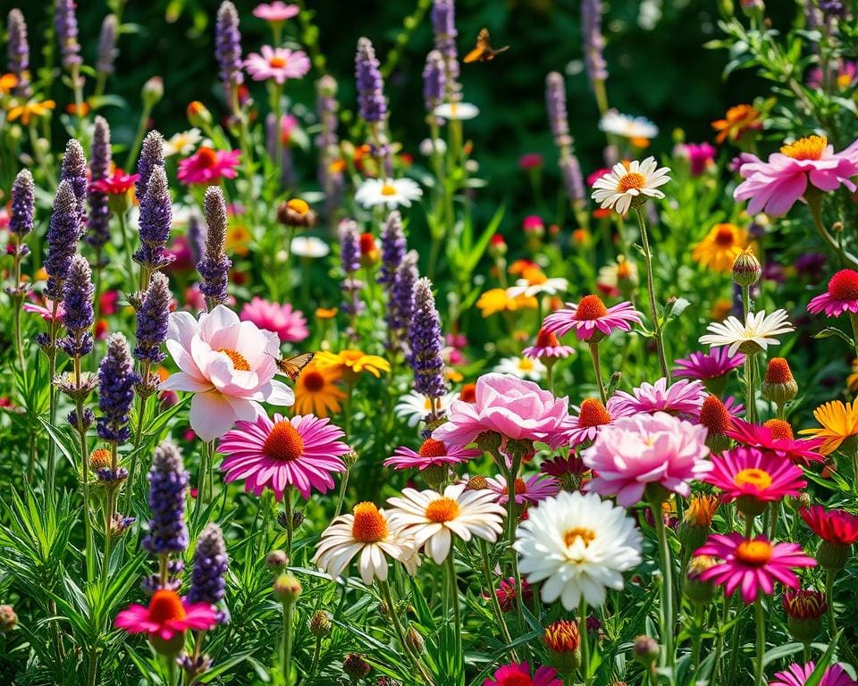
<instances>
[{"instance_id":1,"label":"magenta daisy with orange centre, right of the fluffy white bloom","mask_svg":"<svg viewBox=\"0 0 858 686\"><path fill-rule=\"evenodd\" d=\"M770 595L775 581L797 589L798 577L790 567L816 566L816 560L804 555L797 543L771 543L765 536L745 540L736 532L713 533L694 555L719 558L719 563L700 574L700 580L723 584L727 596L741 587L745 603L753 603L760 590Z\"/></svg>"}]
</instances>

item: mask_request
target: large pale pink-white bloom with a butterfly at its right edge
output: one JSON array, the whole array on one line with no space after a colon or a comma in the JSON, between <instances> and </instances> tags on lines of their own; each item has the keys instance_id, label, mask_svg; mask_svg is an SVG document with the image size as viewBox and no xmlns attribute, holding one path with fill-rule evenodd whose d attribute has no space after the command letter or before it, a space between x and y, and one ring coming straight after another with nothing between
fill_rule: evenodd
<instances>
[{"instance_id":1,"label":"large pale pink-white bloom with a butterfly at its right edge","mask_svg":"<svg viewBox=\"0 0 858 686\"><path fill-rule=\"evenodd\" d=\"M202 440L214 440L238 420L252 422L261 402L288 406L295 396L274 379L280 356L276 333L240 322L225 305L194 319L187 312L170 314L167 350L181 372L172 374L161 390L185 390L190 401L190 426Z\"/></svg>"}]
</instances>

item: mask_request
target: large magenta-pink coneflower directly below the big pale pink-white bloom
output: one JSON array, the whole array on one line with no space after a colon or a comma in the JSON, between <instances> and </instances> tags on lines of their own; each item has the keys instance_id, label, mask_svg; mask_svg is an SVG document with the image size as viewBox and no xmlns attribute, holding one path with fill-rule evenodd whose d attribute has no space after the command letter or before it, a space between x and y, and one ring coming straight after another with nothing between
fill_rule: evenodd
<instances>
[{"instance_id":1,"label":"large magenta-pink coneflower directly below the big pale pink-white bloom","mask_svg":"<svg viewBox=\"0 0 858 686\"><path fill-rule=\"evenodd\" d=\"M244 479L248 493L261 496L267 486L277 499L290 486L299 490L305 500L310 489L324 493L333 488L332 474L345 472L341 456L349 446L340 439L340 427L313 414L299 414L291 419L265 414L253 422L236 422L218 443L218 452L226 457L221 470L224 481Z\"/></svg>"}]
</instances>

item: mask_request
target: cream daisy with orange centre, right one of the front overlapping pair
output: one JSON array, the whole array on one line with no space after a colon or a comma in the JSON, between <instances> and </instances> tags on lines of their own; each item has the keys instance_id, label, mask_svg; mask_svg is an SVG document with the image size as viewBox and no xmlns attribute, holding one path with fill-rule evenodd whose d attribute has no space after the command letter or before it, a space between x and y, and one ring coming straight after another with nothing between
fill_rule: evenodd
<instances>
[{"instance_id":1,"label":"cream daisy with orange centre, right one of the front overlapping pair","mask_svg":"<svg viewBox=\"0 0 858 686\"><path fill-rule=\"evenodd\" d=\"M503 507L494 502L491 489L466 490L465 484L450 485L443 494L434 490L404 489L401 498L390 498L390 521L403 534L413 536L417 548L438 564L450 555L453 535L493 543L503 531Z\"/></svg>"}]
</instances>

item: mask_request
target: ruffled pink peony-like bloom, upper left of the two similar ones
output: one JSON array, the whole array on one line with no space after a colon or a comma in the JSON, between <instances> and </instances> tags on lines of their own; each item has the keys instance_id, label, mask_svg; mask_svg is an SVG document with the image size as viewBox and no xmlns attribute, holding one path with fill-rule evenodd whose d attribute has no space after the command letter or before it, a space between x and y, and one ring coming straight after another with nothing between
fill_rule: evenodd
<instances>
[{"instance_id":1,"label":"ruffled pink peony-like bloom, upper left of the two similar ones","mask_svg":"<svg viewBox=\"0 0 858 686\"><path fill-rule=\"evenodd\" d=\"M568 398L554 397L533 381L511 374L484 374L476 381L475 400L453 400L450 421L432 438L467 446L483 431L514 440L550 440L568 417Z\"/></svg>"}]
</instances>

